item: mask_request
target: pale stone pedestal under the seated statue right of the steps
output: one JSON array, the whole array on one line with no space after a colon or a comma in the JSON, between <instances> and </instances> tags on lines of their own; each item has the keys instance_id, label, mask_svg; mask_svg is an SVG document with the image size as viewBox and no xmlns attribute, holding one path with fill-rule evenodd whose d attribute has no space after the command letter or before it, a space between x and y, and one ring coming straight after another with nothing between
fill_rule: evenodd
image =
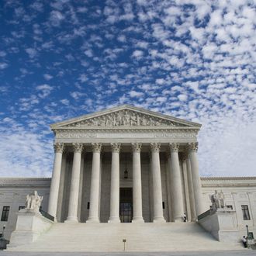
<instances>
[{"instance_id":1,"label":"pale stone pedestal under the seated statue right of the steps","mask_svg":"<svg viewBox=\"0 0 256 256\"><path fill-rule=\"evenodd\" d=\"M220 242L240 242L236 211L229 208L218 208L198 221L199 225Z\"/></svg>"}]
</instances>

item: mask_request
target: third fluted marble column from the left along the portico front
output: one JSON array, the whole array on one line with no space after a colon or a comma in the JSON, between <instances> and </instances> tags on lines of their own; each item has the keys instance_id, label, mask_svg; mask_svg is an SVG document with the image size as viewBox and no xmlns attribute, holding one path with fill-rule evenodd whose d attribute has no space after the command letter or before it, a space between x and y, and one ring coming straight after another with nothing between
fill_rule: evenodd
<instances>
[{"instance_id":1,"label":"third fluted marble column from the left along the portico front","mask_svg":"<svg viewBox=\"0 0 256 256\"><path fill-rule=\"evenodd\" d=\"M99 191L100 191L100 152L102 144L92 144L92 176L91 176L91 193L90 209L87 222L99 223Z\"/></svg>"}]
</instances>

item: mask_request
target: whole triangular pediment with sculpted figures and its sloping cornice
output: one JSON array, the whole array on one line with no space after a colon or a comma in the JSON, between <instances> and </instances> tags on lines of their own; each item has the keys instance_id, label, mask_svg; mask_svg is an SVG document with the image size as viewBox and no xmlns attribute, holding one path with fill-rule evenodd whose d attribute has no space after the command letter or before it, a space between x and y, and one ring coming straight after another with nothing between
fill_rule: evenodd
<instances>
[{"instance_id":1,"label":"whole triangular pediment with sculpted figures and its sloping cornice","mask_svg":"<svg viewBox=\"0 0 256 256\"><path fill-rule=\"evenodd\" d=\"M146 127L146 126L178 126L194 127L201 126L199 123L192 123L183 119L152 112L134 106L119 106L106 109L78 118L69 119L61 123L51 125L52 129L61 128L89 128L89 127Z\"/></svg>"}]
</instances>

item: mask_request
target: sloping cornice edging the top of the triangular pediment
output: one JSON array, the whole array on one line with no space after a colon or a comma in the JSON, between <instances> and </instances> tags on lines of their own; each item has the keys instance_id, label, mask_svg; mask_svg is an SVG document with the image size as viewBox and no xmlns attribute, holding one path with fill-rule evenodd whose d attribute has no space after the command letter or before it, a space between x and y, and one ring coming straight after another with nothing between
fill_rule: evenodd
<instances>
[{"instance_id":1,"label":"sloping cornice edging the top of the triangular pediment","mask_svg":"<svg viewBox=\"0 0 256 256\"><path fill-rule=\"evenodd\" d=\"M116 107L113 107L113 108L110 108L110 109L103 109L103 110L97 111L97 112L90 112L90 113L88 113L86 115L77 116L77 117L74 117L72 119L67 119L65 121L62 121L62 122L52 123L52 124L50 124L50 128L51 128L51 130L53 130L53 129L59 128L57 126L61 126L61 125L64 125L64 124L67 124L67 123L72 123L72 122L79 122L81 119L90 118L92 116L101 116L101 115L106 114L109 111L118 111L118 110L122 110L122 109L126 109L126 108L127 109L132 109L134 111L138 111L139 110L141 112L147 112L148 114L154 115L154 116L157 114L158 116L161 116L164 119L170 119L171 118L174 121L177 121L179 123L193 125L193 126L196 126L198 128L200 128L202 126L202 124L200 124L200 123L195 123L195 122L187 121L185 119L180 119L180 118L177 118L177 117L174 117L174 116L168 116L168 115L162 114L160 112L154 112L152 110L148 110L148 109L140 108L140 107L137 107L137 106L132 106L132 105L124 104L124 105L116 106Z\"/></svg>"}]
</instances>

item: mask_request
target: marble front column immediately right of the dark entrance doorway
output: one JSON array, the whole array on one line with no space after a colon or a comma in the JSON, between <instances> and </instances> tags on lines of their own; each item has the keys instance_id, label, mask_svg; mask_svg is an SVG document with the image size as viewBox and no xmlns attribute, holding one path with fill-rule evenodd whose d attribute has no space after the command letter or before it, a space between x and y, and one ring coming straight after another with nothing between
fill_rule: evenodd
<instances>
[{"instance_id":1,"label":"marble front column immediately right of the dark entrance doorway","mask_svg":"<svg viewBox=\"0 0 256 256\"><path fill-rule=\"evenodd\" d=\"M144 222L142 216L142 192L141 192L141 144L132 144L133 147L133 221Z\"/></svg>"}]
</instances>

